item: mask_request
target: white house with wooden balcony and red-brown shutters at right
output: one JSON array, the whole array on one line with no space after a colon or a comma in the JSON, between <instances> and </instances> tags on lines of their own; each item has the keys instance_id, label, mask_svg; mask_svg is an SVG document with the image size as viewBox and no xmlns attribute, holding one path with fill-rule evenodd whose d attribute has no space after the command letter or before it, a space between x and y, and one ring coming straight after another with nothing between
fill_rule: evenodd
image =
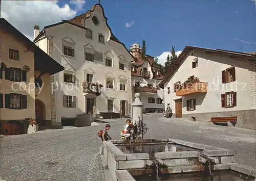
<instances>
[{"instance_id":1,"label":"white house with wooden balcony and red-brown shutters at right","mask_svg":"<svg viewBox=\"0 0 256 181\"><path fill-rule=\"evenodd\" d=\"M176 117L255 130L255 53L186 46L160 86Z\"/></svg>"}]
</instances>

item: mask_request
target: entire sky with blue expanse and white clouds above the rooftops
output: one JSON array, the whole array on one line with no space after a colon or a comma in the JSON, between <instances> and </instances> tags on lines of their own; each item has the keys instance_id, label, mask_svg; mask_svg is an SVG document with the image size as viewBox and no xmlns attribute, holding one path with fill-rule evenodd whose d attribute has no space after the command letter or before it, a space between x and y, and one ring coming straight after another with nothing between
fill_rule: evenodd
<instances>
[{"instance_id":1,"label":"entire sky with blue expanse and white clouds above the rooftops","mask_svg":"<svg viewBox=\"0 0 256 181\"><path fill-rule=\"evenodd\" d=\"M1 17L32 40L35 24L41 30L97 3L2 0ZM173 45L177 55L186 45L256 51L256 0L101 0L100 4L113 34L128 49L145 40L146 53L162 65Z\"/></svg>"}]
</instances>

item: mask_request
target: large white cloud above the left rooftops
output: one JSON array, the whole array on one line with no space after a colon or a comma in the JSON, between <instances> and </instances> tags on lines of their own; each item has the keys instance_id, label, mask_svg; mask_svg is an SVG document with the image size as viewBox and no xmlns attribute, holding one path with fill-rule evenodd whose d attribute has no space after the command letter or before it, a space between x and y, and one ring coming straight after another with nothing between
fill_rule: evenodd
<instances>
[{"instance_id":1,"label":"large white cloud above the left rooftops","mask_svg":"<svg viewBox=\"0 0 256 181\"><path fill-rule=\"evenodd\" d=\"M85 1L71 2L71 4L75 5L74 9L68 4L59 7L57 1L2 1L1 17L33 40L35 24L38 24L41 30L46 25L73 18Z\"/></svg>"}]
</instances>

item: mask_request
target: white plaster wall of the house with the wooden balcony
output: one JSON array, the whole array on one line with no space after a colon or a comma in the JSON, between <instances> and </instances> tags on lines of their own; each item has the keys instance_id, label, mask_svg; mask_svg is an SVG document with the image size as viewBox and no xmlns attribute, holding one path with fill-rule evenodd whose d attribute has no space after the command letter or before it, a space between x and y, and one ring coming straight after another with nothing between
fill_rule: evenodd
<instances>
[{"instance_id":1,"label":"white plaster wall of the house with the wooden balcony","mask_svg":"<svg viewBox=\"0 0 256 181\"><path fill-rule=\"evenodd\" d=\"M198 67L192 68L192 61L198 57ZM231 66L236 67L236 82L222 84L222 70ZM175 99L182 98L176 96L174 92L174 83L186 81L189 76L199 77L200 82L208 83L208 91L206 94L185 96L183 102L183 114L221 112L221 111L237 111L251 109L251 64L220 56L211 56L203 53L194 53L188 56L184 63L180 66L172 79L164 88L164 104L170 104L170 108L175 113ZM170 87L170 94L167 94L167 87ZM237 106L233 108L221 108L221 94L225 92L237 92ZM196 98L196 110L186 111L186 100Z\"/></svg>"}]
</instances>

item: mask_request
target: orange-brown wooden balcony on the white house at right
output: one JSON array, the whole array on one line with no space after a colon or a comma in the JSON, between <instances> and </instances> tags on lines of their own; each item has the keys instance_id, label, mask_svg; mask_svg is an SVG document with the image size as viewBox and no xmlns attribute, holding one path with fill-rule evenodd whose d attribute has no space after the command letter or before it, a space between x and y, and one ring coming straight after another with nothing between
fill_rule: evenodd
<instances>
[{"instance_id":1,"label":"orange-brown wooden balcony on the white house at right","mask_svg":"<svg viewBox=\"0 0 256 181\"><path fill-rule=\"evenodd\" d=\"M206 82L189 84L177 90L176 96L187 96L195 93L206 93L207 87L208 83Z\"/></svg>"}]
</instances>

